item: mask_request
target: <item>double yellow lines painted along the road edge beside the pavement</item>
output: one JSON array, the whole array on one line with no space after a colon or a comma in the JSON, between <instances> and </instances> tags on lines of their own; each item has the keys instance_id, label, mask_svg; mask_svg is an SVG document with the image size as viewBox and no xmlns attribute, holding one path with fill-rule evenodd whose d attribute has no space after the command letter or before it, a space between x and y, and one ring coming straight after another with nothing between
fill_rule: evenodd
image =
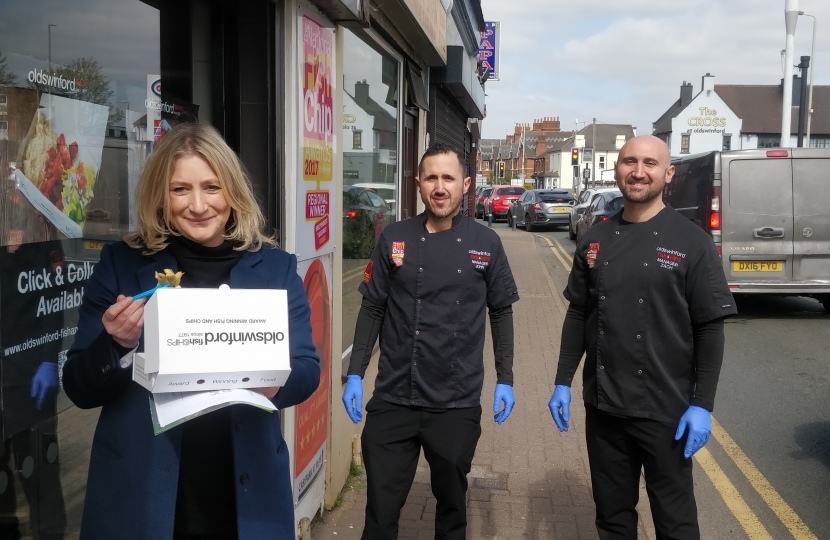
<instances>
[{"instance_id":1,"label":"double yellow lines painted along the road edge beside the pavement","mask_svg":"<svg viewBox=\"0 0 830 540\"><path fill-rule=\"evenodd\" d=\"M549 238L541 234L537 234L536 236L548 243L550 250L559 259L559 262L562 263L565 270L570 272L571 264L568 261L571 259L571 256L562 247L562 244L555 239L551 242ZM810 528L795 513L792 507L778 494L775 488L772 487L772 484L761 474L761 471L758 470L714 417L712 417L712 436L732 461L735 462L735 465L737 465L753 489L758 492L764 502L767 503L767 506L770 507L781 523L790 531L790 534L795 540L818 540L816 535L810 531ZM727 508L729 508L732 515L741 524L741 527L743 527L750 540L772 540L772 536L755 513L749 508L749 505L741 496L740 492L738 492L738 489L729 480L709 450L701 448L695 454L695 459L706 473L706 476L709 477L712 484L714 484L715 489L720 493Z\"/></svg>"}]
</instances>

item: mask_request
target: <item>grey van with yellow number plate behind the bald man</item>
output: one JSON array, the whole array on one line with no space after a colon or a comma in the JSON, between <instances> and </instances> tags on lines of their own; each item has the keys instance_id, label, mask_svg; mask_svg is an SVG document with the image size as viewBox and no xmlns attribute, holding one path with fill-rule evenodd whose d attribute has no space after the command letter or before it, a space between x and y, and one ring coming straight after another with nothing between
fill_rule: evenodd
<instances>
[{"instance_id":1,"label":"grey van with yellow number plate behind the bald man","mask_svg":"<svg viewBox=\"0 0 830 540\"><path fill-rule=\"evenodd\" d=\"M672 160L666 204L712 236L733 293L811 296L830 312L830 149Z\"/></svg>"}]
</instances>

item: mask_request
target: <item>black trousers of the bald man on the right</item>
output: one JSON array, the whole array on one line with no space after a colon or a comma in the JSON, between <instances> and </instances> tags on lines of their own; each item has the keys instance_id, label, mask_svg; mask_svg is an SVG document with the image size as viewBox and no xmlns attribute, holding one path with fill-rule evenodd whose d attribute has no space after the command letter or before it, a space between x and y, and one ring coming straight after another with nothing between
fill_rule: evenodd
<instances>
[{"instance_id":1,"label":"black trousers of the bald man on the right","mask_svg":"<svg viewBox=\"0 0 830 540\"><path fill-rule=\"evenodd\" d=\"M637 539L642 468L657 539L699 540L692 460L683 457L685 439L674 440L677 426L614 416L590 405L585 411L600 539Z\"/></svg>"}]
</instances>

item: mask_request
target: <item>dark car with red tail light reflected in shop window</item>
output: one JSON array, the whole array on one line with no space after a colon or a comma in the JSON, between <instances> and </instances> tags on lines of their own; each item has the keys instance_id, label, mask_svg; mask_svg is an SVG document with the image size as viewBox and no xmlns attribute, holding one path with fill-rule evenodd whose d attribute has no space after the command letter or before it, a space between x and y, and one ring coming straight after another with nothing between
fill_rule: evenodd
<instances>
[{"instance_id":1,"label":"dark car with red tail light reflected in shop window","mask_svg":"<svg viewBox=\"0 0 830 540\"><path fill-rule=\"evenodd\" d=\"M369 189L343 190L343 257L368 259L384 227L392 222L392 209Z\"/></svg>"}]
</instances>

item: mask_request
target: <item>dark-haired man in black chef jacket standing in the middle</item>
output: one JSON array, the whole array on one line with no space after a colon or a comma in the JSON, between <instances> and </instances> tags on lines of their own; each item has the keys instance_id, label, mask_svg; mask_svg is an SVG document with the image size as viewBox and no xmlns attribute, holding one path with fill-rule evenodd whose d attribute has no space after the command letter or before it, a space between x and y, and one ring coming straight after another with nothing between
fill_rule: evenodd
<instances>
[{"instance_id":1,"label":"dark-haired man in black chef jacket standing in the middle","mask_svg":"<svg viewBox=\"0 0 830 540\"><path fill-rule=\"evenodd\" d=\"M361 379L380 335L361 437L364 540L398 537L421 448L437 500L435 538L464 540L466 477L481 435L485 306L498 381L494 420L504 422L515 403L511 306L519 295L498 235L459 213L470 186L464 169L454 149L430 146L416 179L424 213L384 229L358 289L363 303L343 392L354 423L362 418Z\"/></svg>"}]
</instances>

